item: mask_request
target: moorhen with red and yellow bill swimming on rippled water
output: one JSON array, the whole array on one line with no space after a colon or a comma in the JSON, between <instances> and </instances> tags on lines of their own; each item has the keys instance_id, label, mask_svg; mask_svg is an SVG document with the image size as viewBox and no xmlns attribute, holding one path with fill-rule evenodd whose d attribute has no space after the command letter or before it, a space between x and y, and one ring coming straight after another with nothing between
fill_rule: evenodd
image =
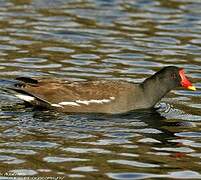
<instances>
[{"instance_id":1,"label":"moorhen with red and yellow bill swimming on rippled water","mask_svg":"<svg viewBox=\"0 0 201 180\"><path fill-rule=\"evenodd\" d=\"M140 84L117 80L70 82L19 77L15 96L36 107L71 113L125 113L152 108L176 87L196 90L175 66L164 67Z\"/></svg>"}]
</instances>

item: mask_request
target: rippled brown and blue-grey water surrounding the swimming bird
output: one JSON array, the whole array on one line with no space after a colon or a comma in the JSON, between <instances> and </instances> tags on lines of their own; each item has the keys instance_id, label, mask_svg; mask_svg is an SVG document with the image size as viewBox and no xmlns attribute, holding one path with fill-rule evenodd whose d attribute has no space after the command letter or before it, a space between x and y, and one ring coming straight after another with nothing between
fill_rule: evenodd
<instances>
[{"instance_id":1,"label":"rippled brown and blue-grey water surrounding the swimming bird","mask_svg":"<svg viewBox=\"0 0 201 180\"><path fill-rule=\"evenodd\" d=\"M1 91L1 178L201 179L200 63L197 0L1 0L1 79L141 82L177 65L198 89L118 116L35 111Z\"/></svg>"}]
</instances>

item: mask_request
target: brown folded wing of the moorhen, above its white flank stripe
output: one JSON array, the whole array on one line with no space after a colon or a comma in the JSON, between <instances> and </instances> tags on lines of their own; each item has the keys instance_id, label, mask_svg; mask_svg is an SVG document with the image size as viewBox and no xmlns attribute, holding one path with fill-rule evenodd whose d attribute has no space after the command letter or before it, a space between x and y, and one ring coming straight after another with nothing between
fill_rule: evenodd
<instances>
[{"instance_id":1,"label":"brown folded wing of the moorhen, above its white flank stripe","mask_svg":"<svg viewBox=\"0 0 201 180\"><path fill-rule=\"evenodd\" d=\"M108 99L123 91L123 82L83 81L64 82L60 80L41 80L37 84L26 84L22 89L50 103L64 101Z\"/></svg>"}]
</instances>

